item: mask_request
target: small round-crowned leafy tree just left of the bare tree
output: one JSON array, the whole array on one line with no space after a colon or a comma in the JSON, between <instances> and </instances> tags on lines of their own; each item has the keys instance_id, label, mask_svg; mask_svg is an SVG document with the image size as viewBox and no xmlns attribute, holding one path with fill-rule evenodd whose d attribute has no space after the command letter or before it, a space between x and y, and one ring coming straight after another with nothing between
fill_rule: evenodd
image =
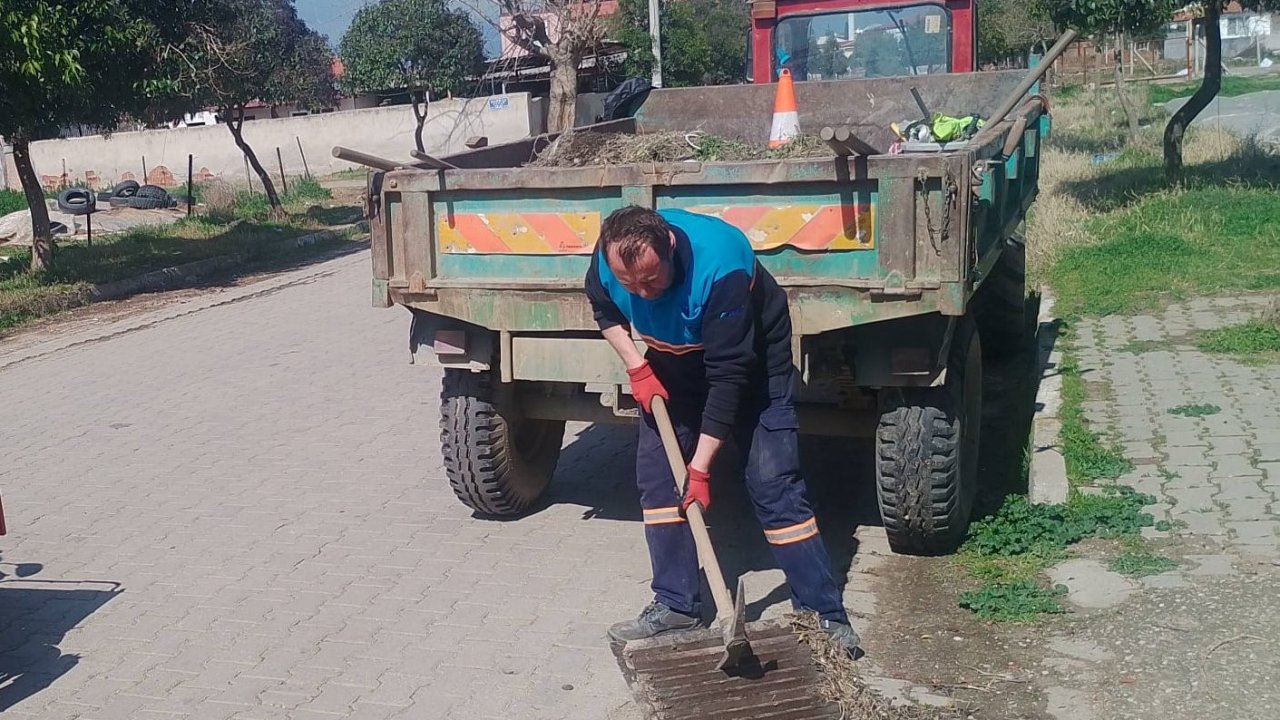
<instances>
[{"instance_id":1,"label":"small round-crowned leafy tree just left of the bare tree","mask_svg":"<svg viewBox=\"0 0 1280 720\"><path fill-rule=\"evenodd\" d=\"M430 94L457 92L484 65L480 29L445 0L380 0L365 5L338 45L348 92L408 91L413 142L422 146Z\"/></svg>"}]
</instances>

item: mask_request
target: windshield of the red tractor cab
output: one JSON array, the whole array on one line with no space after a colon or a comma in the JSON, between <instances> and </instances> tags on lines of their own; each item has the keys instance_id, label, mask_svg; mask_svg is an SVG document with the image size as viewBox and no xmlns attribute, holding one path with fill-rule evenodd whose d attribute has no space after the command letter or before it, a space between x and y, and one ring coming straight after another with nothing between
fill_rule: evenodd
<instances>
[{"instance_id":1,"label":"windshield of the red tractor cab","mask_svg":"<svg viewBox=\"0 0 1280 720\"><path fill-rule=\"evenodd\" d=\"M791 15L773 32L773 73L796 79L951 72L951 18L941 5Z\"/></svg>"}]
</instances>

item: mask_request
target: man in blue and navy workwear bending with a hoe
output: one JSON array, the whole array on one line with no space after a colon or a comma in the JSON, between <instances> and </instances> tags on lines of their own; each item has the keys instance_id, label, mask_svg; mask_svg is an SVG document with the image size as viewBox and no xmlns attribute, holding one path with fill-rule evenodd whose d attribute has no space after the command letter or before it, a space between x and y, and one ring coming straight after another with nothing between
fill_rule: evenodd
<instances>
[{"instance_id":1,"label":"man in blue and navy workwear bending with a hoe","mask_svg":"<svg viewBox=\"0 0 1280 720\"><path fill-rule=\"evenodd\" d=\"M698 626L698 552L684 515L694 502L710 507L712 460L732 439L792 606L817 612L831 639L856 652L859 638L800 477L787 297L746 236L718 218L623 208L600 228L586 293L644 409L636 484L654 600L639 618L609 628L609 637L634 641ZM649 346L644 356L632 327ZM650 411L655 396L669 406L689 464L684 497Z\"/></svg>"}]
</instances>

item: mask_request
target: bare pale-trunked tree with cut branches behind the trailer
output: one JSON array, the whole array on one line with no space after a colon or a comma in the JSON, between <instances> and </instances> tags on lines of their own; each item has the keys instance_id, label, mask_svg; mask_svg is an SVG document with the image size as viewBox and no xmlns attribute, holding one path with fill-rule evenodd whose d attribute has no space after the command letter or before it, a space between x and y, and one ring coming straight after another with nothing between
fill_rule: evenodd
<instances>
[{"instance_id":1,"label":"bare pale-trunked tree with cut branches behind the trailer","mask_svg":"<svg viewBox=\"0 0 1280 720\"><path fill-rule=\"evenodd\" d=\"M596 53L608 35L609 23L600 17L603 0L492 0L502 17L497 20L480 4L466 4L498 28L512 45L530 55L545 58L550 65L550 110L547 129L562 132L573 127L577 108L577 69Z\"/></svg>"}]
</instances>

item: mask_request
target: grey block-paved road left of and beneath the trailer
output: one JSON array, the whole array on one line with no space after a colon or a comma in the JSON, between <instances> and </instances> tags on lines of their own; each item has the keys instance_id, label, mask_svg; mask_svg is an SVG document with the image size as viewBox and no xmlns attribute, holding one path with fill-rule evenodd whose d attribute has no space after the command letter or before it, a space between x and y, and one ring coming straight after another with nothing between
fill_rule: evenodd
<instances>
[{"instance_id":1,"label":"grey block-paved road left of and beneath the trailer","mask_svg":"<svg viewBox=\"0 0 1280 720\"><path fill-rule=\"evenodd\" d=\"M5 717L634 714L603 642L649 597L630 433L572 427L545 510L472 519L439 378L367 278L346 258L0 348ZM718 502L751 612L785 610L744 498Z\"/></svg>"}]
</instances>

